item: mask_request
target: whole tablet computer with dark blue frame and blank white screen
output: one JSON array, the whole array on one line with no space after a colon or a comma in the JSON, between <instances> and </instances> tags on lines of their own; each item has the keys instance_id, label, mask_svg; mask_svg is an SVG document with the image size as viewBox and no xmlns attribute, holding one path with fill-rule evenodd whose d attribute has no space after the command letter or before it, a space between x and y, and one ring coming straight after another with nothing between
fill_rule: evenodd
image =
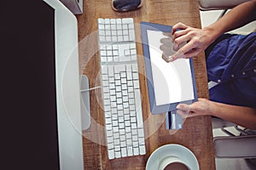
<instances>
[{"instance_id":1,"label":"whole tablet computer with dark blue frame and blank white screen","mask_svg":"<svg viewBox=\"0 0 256 170\"><path fill-rule=\"evenodd\" d=\"M170 33L172 26L148 22L141 22L140 26L151 113L175 111L180 103L197 101L193 59L176 59L167 63L162 58L160 40L168 38L164 32Z\"/></svg>"}]
</instances>

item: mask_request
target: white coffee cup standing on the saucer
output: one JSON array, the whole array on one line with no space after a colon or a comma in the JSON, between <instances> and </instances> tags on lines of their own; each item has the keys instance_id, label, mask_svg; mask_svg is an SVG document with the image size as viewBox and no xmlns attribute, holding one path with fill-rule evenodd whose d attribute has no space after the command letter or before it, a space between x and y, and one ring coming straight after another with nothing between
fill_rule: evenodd
<instances>
[{"instance_id":1,"label":"white coffee cup standing on the saucer","mask_svg":"<svg viewBox=\"0 0 256 170\"><path fill-rule=\"evenodd\" d=\"M177 158L176 156L167 156L164 159L162 159L159 163L159 170L164 170L165 167L170 166L171 164L180 164L181 167L184 167L183 169L191 169L189 167L189 164L187 164L185 161L182 161L181 159ZM176 165L178 166L178 165ZM187 167L187 168L185 168Z\"/></svg>"}]
</instances>

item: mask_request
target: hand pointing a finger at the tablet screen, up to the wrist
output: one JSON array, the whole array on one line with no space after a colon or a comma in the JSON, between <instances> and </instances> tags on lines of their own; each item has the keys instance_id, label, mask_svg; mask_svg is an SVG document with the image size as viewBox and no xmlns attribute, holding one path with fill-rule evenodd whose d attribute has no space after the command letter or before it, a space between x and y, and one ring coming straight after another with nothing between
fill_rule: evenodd
<instances>
[{"instance_id":1,"label":"hand pointing a finger at the tablet screen, up to the wrist","mask_svg":"<svg viewBox=\"0 0 256 170\"><path fill-rule=\"evenodd\" d=\"M180 31L177 31L180 30ZM212 32L205 29L197 29L178 23L172 27L172 43L173 48L177 52L173 54L168 61L174 61L179 58L191 58L204 51L214 40ZM166 47L163 42L162 47Z\"/></svg>"}]
</instances>

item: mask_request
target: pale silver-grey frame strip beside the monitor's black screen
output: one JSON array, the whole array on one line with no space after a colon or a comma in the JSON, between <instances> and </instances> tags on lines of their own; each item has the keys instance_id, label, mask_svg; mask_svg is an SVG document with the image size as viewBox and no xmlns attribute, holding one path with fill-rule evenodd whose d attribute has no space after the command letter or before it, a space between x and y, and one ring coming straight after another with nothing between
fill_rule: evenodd
<instances>
[{"instance_id":1,"label":"pale silver-grey frame strip beside the monitor's black screen","mask_svg":"<svg viewBox=\"0 0 256 170\"><path fill-rule=\"evenodd\" d=\"M84 169L79 79L78 23L58 0L54 10L55 93L60 169Z\"/></svg>"}]
</instances>

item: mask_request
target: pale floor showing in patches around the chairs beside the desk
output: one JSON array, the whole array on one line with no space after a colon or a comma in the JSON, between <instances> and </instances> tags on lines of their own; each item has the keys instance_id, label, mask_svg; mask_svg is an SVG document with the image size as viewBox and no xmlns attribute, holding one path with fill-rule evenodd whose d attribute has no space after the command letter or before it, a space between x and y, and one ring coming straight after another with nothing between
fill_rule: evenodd
<instances>
[{"instance_id":1,"label":"pale floor showing in patches around the chairs beside the desk","mask_svg":"<svg viewBox=\"0 0 256 170\"><path fill-rule=\"evenodd\" d=\"M201 26L209 26L218 19L218 16L222 11L201 11ZM255 31L256 29L256 21L248 24L247 26L243 26L236 31L231 31L231 33L239 33L239 34L247 34L248 32ZM232 132L236 132L235 129L230 128ZM213 136L226 135L220 129L213 130ZM251 166L247 164L247 161L244 159L218 159L216 158L216 169L217 170L253 170L256 169L256 165Z\"/></svg>"}]
</instances>

